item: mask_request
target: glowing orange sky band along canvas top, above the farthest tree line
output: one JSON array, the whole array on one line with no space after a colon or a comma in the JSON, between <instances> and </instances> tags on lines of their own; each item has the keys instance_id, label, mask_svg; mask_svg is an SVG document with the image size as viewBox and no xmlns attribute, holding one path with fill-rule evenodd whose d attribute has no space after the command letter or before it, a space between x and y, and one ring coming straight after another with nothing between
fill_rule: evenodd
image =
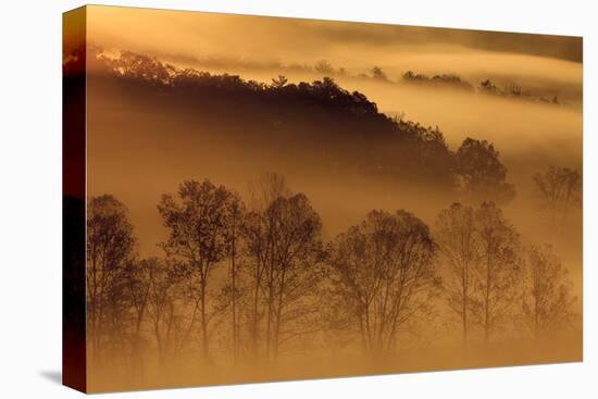
<instances>
[{"instance_id":1,"label":"glowing orange sky band along canvas top, above the farthest tree line","mask_svg":"<svg viewBox=\"0 0 598 399\"><path fill-rule=\"evenodd\" d=\"M275 18L152 9L89 7L88 38L107 49L188 57L233 57L356 64L354 54L489 50L581 61L582 40L399 25ZM386 60L384 60L386 61ZM378 61L383 62L383 61Z\"/></svg>"}]
</instances>

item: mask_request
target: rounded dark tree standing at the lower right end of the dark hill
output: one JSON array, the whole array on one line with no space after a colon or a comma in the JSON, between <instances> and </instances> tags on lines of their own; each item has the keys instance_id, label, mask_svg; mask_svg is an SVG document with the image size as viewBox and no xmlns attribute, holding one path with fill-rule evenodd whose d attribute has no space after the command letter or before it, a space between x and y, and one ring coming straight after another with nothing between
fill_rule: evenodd
<instances>
[{"instance_id":1,"label":"rounded dark tree standing at the lower right end of the dark hill","mask_svg":"<svg viewBox=\"0 0 598 399\"><path fill-rule=\"evenodd\" d=\"M459 188L463 199L474 204L483 201L506 203L513 199L513 185L506 182L507 167L499 152L486 140L466 138L456 153Z\"/></svg>"}]
</instances>

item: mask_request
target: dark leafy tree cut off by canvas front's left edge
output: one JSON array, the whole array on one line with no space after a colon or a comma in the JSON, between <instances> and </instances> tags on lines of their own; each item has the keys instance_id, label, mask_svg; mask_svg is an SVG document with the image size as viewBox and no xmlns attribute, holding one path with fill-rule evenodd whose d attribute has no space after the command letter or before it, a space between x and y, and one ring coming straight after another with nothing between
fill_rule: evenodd
<instances>
[{"instance_id":1,"label":"dark leafy tree cut off by canvas front's left edge","mask_svg":"<svg viewBox=\"0 0 598 399\"><path fill-rule=\"evenodd\" d=\"M87 204L87 325L91 356L100 363L102 344L124 341L128 304L122 274L133 258L128 211L113 196L92 197Z\"/></svg>"}]
</instances>

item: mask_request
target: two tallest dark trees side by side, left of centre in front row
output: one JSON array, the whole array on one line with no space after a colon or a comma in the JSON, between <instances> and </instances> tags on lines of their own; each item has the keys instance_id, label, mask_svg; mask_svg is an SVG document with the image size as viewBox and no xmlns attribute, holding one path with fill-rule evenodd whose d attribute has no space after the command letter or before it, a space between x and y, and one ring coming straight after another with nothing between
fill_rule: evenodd
<instances>
[{"instance_id":1,"label":"two tallest dark trees side by side, left of centre in front row","mask_svg":"<svg viewBox=\"0 0 598 399\"><path fill-rule=\"evenodd\" d=\"M162 247L191 295L191 320L197 311L208 361L213 322L229 322L226 334L235 359L248 353L275 359L284 344L317 327L314 308L324 259L320 216L278 175L265 176L254 195L256 203L246 211L225 187L189 180L159 204L169 230ZM219 274L225 265L226 273ZM161 277L160 290L170 280ZM157 304L163 296L150 297L152 317L162 324L157 312L172 312Z\"/></svg>"}]
</instances>

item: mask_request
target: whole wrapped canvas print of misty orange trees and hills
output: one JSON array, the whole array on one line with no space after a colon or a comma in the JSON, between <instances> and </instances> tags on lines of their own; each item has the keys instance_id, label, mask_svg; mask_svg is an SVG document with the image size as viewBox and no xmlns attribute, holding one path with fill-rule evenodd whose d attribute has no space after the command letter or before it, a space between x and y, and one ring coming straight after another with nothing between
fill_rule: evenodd
<instances>
[{"instance_id":1,"label":"whole wrapped canvas print of misty orange trees and hills","mask_svg":"<svg viewBox=\"0 0 598 399\"><path fill-rule=\"evenodd\" d=\"M64 14L64 383L582 360L582 38Z\"/></svg>"}]
</instances>

